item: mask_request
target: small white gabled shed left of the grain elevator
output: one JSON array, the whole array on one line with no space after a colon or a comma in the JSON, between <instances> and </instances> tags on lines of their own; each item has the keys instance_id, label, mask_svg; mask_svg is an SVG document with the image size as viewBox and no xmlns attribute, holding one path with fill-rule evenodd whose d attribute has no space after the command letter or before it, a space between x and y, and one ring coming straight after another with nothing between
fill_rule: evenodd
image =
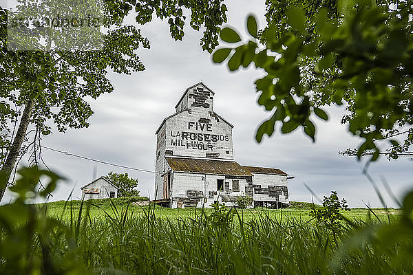
<instances>
[{"instance_id":1,"label":"small white gabled shed left of the grain elevator","mask_svg":"<svg viewBox=\"0 0 413 275\"><path fill-rule=\"evenodd\" d=\"M104 177L98 177L98 179L82 186L81 190L82 199L108 199L118 197L119 188Z\"/></svg>"}]
</instances>

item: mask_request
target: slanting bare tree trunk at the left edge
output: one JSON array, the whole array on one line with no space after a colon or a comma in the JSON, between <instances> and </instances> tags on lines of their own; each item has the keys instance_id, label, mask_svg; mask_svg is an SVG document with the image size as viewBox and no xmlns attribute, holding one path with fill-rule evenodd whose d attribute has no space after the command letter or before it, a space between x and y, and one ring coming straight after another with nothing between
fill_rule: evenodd
<instances>
[{"instance_id":1,"label":"slanting bare tree trunk at the left edge","mask_svg":"<svg viewBox=\"0 0 413 275\"><path fill-rule=\"evenodd\" d=\"M21 144L23 144L23 140L30 123L30 117L32 116L33 106L34 100L32 99L30 99L25 104L23 115L21 115L19 129L17 129L16 137L14 137L12 146L10 147L10 151L6 157L6 161L4 162L3 167L1 167L0 169L0 201L1 199L3 199L8 180L10 179L10 175L12 174L14 165L16 165L17 157L19 157Z\"/></svg>"}]
</instances>

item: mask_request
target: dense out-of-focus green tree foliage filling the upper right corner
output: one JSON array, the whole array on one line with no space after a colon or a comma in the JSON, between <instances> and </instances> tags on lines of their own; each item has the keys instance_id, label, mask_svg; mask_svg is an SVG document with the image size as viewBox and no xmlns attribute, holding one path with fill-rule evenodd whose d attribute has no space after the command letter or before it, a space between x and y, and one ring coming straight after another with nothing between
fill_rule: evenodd
<instances>
[{"instance_id":1,"label":"dense out-of-focus green tree foliage filling the upper right corner","mask_svg":"<svg viewBox=\"0 0 413 275\"><path fill-rule=\"evenodd\" d=\"M247 19L251 39L224 28L220 37L237 47L213 54L228 60L231 71L254 63L264 77L255 81L258 103L273 111L257 130L256 139L298 128L315 141L313 118L328 120L322 106L346 104L348 131L363 139L357 156L375 160L390 150L408 152L413 142L412 6L403 1L267 1L268 26L257 32ZM260 49L260 50L257 50ZM404 133L401 144L396 136ZM396 158L396 154L393 154Z\"/></svg>"}]
</instances>

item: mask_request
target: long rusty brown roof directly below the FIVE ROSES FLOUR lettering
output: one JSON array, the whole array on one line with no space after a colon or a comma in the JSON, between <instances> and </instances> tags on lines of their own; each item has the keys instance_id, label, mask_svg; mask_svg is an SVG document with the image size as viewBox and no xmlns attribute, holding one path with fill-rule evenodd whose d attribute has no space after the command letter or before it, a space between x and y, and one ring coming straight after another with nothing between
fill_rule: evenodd
<instances>
[{"instance_id":1,"label":"long rusty brown roof directly below the FIVE ROSES FLOUR lettering","mask_svg":"<svg viewBox=\"0 0 413 275\"><path fill-rule=\"evenodd\" d=\"M177 172L202 173L213 175L252 176L246 168L233 161L214 159L189 159L165 157L172 170Z\"/></svg>"}]
</instances>

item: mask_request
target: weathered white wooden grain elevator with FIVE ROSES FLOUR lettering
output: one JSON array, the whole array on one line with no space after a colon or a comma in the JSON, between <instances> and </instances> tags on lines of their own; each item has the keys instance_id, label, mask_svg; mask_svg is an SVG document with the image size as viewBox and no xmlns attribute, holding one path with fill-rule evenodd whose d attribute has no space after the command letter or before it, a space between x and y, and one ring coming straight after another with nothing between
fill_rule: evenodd
<instances>
[{"instance_id":1,"label":"weathered white wooden grain elevator with FIVE ROSES FLOUR lettering","mask_svg":"<svg viewBox=\"0 0 413 275\"><path fill-rule=\"evenodd\" d=\"M203 83L189 87L156 131L156 201L236 206L237 197L248 196L253 206L288 205L286 173L234 161L233 125L213 111L214 94Z\"/></svg>"}]
</instances>

